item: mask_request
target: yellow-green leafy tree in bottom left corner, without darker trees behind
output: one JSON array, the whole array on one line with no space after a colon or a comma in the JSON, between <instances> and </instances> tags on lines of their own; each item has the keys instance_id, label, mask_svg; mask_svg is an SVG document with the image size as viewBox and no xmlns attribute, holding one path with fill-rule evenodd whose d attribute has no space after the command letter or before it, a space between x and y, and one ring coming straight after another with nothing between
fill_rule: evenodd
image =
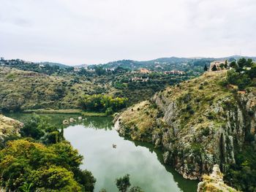
<instances>
[{"instance_id":1,"label":"yellow-green leafy tree in bottom left corner, without darker trees behind","mask_svg":"<svg viewBox=\"0 0 256 192\"><path fill-rule=\"evenodd\" d=\"M0 185L7 190L94 190L91 172L79 169L83 157L67 142L45 146L25 139L9 141L0 157Z\"/></svg>"}]
</instances>

